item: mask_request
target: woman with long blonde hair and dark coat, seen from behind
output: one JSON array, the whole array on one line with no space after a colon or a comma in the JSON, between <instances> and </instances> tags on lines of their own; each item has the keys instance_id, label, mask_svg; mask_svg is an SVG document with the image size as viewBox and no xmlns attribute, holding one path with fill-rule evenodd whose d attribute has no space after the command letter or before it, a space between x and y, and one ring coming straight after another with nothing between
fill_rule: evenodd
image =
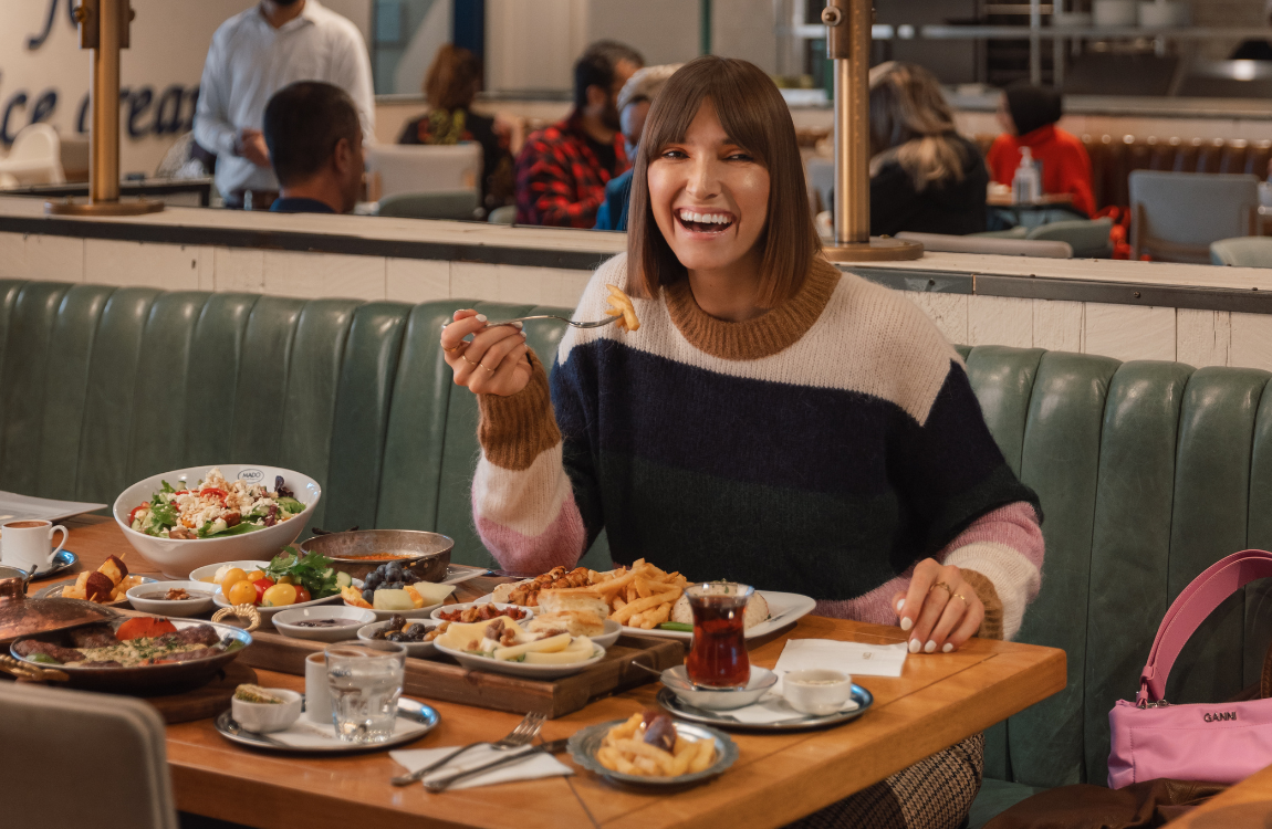
<instances>
[{"instance_id":1,"label":"woman with long blonde hair and dark coat, seen from behind","mask_svg":"<svg viewBox=\"0 0 1272 829\"><path fill-rule=\"evenodd\" d=\"M870 235L985 230L990 173L929 70L870 71Z\"/></svg>"}]
</instances>

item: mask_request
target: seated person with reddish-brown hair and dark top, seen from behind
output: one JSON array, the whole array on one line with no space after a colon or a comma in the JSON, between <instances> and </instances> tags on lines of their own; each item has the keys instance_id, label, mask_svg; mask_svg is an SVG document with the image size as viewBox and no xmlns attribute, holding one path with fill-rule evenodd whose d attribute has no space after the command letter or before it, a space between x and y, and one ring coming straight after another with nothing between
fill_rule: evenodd
<instances>
[{"instance_id":1,"label":"seated person with reddish-brown hair and dark top, seen from behind","mask_svg":"<svg viewBox=\"0 0 1272 829\"><path fill-rule=\"evenodd\" d=\"M468 50L450 43L438 50L424 80L429 112L406 125L398 144L481 144L481 200L486 210L494 210L513 203L513 154L508 130L471 109L481 75L481 61Z\"/></svg>"}]
</instances>

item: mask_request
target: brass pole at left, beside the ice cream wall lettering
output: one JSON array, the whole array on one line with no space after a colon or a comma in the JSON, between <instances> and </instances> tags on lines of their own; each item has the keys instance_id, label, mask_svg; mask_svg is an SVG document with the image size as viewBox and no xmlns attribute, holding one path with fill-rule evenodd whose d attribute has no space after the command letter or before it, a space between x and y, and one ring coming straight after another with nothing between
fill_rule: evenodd
<instances>
[{"instance_id":1,"label":"brass pole at left, beside the ice cream wall lettering","mask_svg":"<svg viewBox=\"0 0 1272 829\"><path fill-rule=\"evenodd\" d=\"M88 203L45 202L45 212L73 216L135 216L163 210L162 201L120 201L120 50L128 47L130 0L81 0L75 8L80 48L89 66Z\"/></svg>"}]
</instances>

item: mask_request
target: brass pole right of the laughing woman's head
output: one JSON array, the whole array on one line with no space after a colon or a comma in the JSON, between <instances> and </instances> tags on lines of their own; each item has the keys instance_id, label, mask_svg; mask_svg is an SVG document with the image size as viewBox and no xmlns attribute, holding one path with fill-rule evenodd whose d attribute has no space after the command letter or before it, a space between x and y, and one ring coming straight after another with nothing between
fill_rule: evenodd
<instances>
[{"instance_id":1,"label":"brass pole right of the laughing woman's head","mask_svg":"<svg viewBox=\"0 0 1272 829\"><path fill-rule=\"evenodd\" d=\"M871 0L828 0L826 52L834 65L834 243L832 262L917 259L923 245L870 236Z\"/></svg>"}]
</instances>

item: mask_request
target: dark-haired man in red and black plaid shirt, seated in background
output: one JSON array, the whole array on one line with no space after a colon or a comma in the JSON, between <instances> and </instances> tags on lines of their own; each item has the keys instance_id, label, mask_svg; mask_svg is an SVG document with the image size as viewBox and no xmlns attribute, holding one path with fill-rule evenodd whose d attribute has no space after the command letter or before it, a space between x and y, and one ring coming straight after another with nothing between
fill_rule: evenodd
<instances>
[{"instance_id":1,"label":"dark-haired man in red and black plaid shirt, seated in background","mask_svg":"<svg viewBox=\"0 0 1272 829\"><path fill-rule=\"evenodd\" d=\"M618 90L645 65L640 52L598 41L574 65L574 111L532 132L516 156L516 224L591 228L605 183L623 173Z\"/></svg>"}]
</instances>

